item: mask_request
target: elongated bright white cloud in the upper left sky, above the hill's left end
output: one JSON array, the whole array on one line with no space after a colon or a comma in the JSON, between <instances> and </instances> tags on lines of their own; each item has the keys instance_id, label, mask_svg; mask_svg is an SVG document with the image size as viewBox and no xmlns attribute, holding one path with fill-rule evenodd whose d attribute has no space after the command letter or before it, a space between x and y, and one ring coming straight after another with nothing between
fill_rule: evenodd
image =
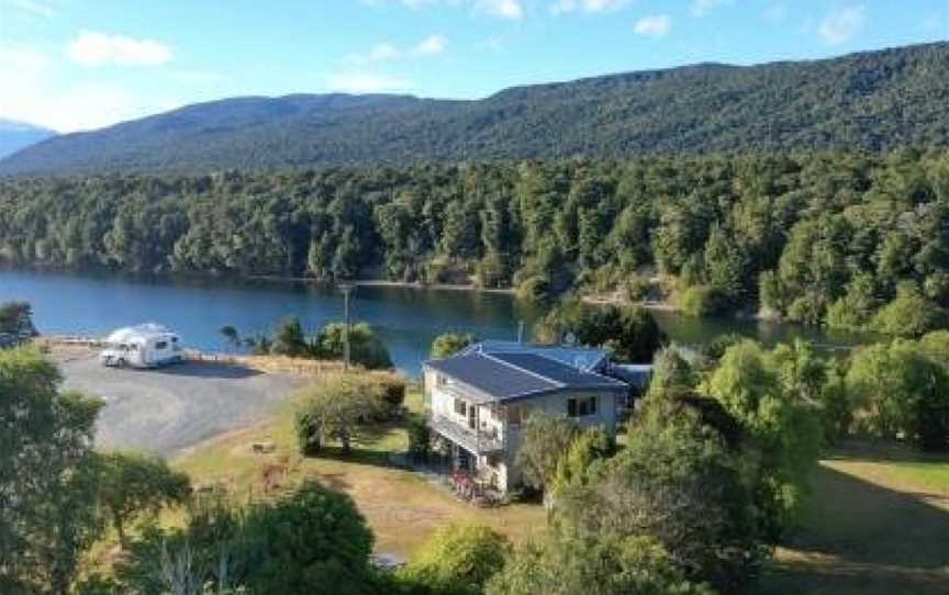
<instances>
[{"instance_id":1,"label":"elongated bright white cloud in the upper left sky, above the hill's left end","mask_svg":"<svg viewBox=\"0 0 949 595\"><path fill-rule=\"evenodd\" d=\"M160 66L171 61L171 48L163 43L93 31L80 32L66 53L82 66Z\"/></svg>"}]
</instances>

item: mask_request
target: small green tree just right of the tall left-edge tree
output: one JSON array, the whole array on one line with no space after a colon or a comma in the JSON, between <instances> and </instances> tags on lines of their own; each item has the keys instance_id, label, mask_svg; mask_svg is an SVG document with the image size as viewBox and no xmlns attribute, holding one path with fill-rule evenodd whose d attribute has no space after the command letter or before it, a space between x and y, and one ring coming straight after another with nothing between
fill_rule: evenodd
<instances>
[{"instance_id":1,"label":"small green tree just right of the tall left-edge tree","mask_svg":"<svg viewBox=\"0 0 949 595\"><path fill-rule=\"evenodd\" d=\"M110 452L99 457L99 498L119 542L127 546L125 527L141 514L157 515L165 506L187 502L191 481L185 473L171 471L155 457L134 452Z\"/></svg>"}]
</instances>

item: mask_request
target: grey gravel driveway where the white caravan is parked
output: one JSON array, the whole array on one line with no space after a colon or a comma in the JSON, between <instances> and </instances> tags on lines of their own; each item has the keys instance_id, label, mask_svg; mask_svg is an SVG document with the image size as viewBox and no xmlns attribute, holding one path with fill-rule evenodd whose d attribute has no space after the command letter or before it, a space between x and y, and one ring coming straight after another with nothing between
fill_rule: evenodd
<instances>
[{"instance_id":1,"label":"grey gravel driveway where the white caravan is parked","mask_svg":"<svg viewBox=\"0 0 949 595\"><path fill-rule=\"evenodd\" d=\"M133 370L105 368L94 351L54 355L66 389L105 401L97 446L164 457L265 418L304 383L290 374L215 363Z\"/></svg>"}]
</instances>

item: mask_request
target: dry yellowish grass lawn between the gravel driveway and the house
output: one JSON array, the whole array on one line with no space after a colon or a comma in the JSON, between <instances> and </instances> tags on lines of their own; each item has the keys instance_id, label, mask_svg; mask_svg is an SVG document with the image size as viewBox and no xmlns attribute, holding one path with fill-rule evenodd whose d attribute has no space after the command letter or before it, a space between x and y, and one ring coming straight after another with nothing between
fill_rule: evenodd
<instances>
[{"instance_id":1,"label":"dry yellowish grass lawn between the gravel driveway and the house","mask_svg":"<svg viewBox=\"0 0 949 595\"><path fill-rule=\"evenodd\" d=\"M410 393L407 405L421 406L421 395ZM276 452L255 454L250 445L272 441ZM326 456L302 458L297 453L292 409L279 412L271 422L231 433L205 442L174 461L196 484L221 482L242 497L261 497L261 470L286 464L284 485L315 478L324 485L349 494L369 520L379 552L411 555L432 532L448 523L489 525L514 541L545 525L538 505L515 504L481 509L455 499L417 473L401 470L389 461L391 452L404 451L404 428L384 428L371 441L356 447L349 456L326 449Z\"/></svg>"}]
</instances>

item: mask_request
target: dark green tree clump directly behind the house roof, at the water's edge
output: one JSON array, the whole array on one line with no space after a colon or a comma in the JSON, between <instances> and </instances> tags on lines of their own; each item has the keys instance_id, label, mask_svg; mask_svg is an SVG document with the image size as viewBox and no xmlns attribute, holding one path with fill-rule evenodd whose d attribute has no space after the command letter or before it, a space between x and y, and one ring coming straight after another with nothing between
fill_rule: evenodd
<instances>
[{"instance_id":1,"label":"dark green tree clump directly behind the house roof, at the water's edge","mask_svg":"<svg viewBox=\"0 0 949 595\"><path fill-rule=\"evenodd\" d=\"M578 343L611 349L621 361L652 361L666 335L639 306L591 306L565 301L551 310L537 329L544 343L561 343L572 333Z\"/></svg>"}]
</instances>

